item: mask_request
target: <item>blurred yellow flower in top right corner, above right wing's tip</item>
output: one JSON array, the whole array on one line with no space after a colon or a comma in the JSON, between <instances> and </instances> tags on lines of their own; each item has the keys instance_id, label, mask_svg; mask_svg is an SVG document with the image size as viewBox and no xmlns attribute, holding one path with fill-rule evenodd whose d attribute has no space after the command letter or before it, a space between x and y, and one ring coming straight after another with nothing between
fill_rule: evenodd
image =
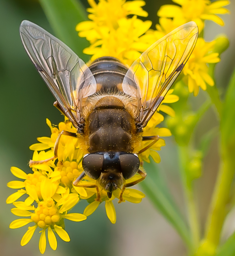
<instances>
[{"instance_id":1,"label":"blurred yellow flower in top right corner, above right wing's tip","mask_svg":"<svg viewBox=\"0 0 235 256\"><path fill-rule=\"evenodd\" d=\"M223 26L223 20L216 14L225 14L229 11L224 6L230 1L219 0L211 3L209 0L172 0L181 5L163 5L157 12L159 17L173 18L173 23L182 25L189 21L195 21L198 25L199 32L204 27L204 20L212 20L215 23ZM170 23L170 21L168 21ZM176 28L176 27L174 27Z\"/></svg>"}]
</instances>

